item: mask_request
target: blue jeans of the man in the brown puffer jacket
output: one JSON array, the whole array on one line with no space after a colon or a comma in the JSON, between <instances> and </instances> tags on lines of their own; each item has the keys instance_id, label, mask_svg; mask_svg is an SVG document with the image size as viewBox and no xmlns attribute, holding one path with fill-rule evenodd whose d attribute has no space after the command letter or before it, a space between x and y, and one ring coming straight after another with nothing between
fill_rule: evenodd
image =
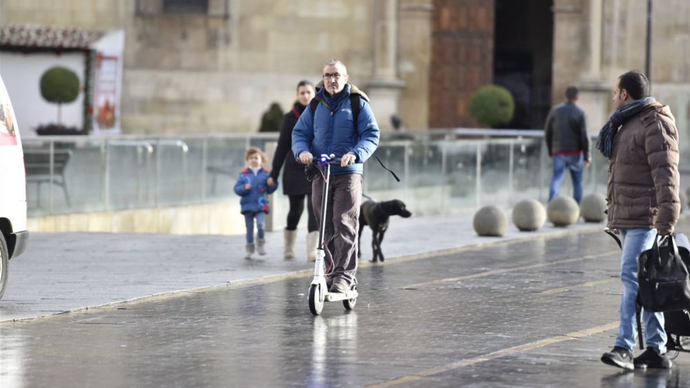
<instances>
[{"instance_id":1,"label":"blue jeans of the man in the brown puffer jacket","mask_svg":"<svg viewBox=\"0 0 690 388\"><path fill-rule=\"evenodd\" d=\"M633 351L637 337L635 299L638 297L638 256L654 245L656 229L620 229L623 254L620 260L620 280L623 296L620 299L620 326L615 346ZM666 353L664 313L651 313L642 309L644 342L658 354Z\"/></svg>"}]
</instances>

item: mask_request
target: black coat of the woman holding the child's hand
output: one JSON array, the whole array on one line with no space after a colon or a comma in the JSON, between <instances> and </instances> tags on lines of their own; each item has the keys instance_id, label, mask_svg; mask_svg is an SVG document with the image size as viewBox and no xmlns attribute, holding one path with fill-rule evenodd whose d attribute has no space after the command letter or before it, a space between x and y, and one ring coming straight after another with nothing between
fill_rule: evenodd
<instances>
[{"instance_id":1,"label":"black coat of the woman holding the child's hand","mask_svg":"<svg viewBox=\"0 0 690 388\"><path fill-rule=\"evenodd\" d=\"M283 122L280 125L278 147L275 149L275 155L273 155L271 178L277 180L280 167L285 163L283 171L283 193L285 195L311 194L311 182L306 180L304 165L295 161L292 152L293 128L305 109L306 106L295 102L293 109L284 114Z\"/></svg>"}]
</instances>

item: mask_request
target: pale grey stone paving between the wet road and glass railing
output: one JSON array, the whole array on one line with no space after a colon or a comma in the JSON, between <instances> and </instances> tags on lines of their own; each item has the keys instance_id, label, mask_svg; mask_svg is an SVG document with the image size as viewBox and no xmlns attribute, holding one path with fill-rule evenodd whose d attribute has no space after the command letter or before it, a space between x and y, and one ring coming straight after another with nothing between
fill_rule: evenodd
<instances>
[{"instance_id":1,"label":"pale grey stone paving between the wet road and glass railing","mask_svg":"<svg viewBox=\"0 0 690 388\"><path fill-rule=\"evenodd\" d=\"M477 236L471 216L395 217L383 243L388 261L541 236L596 231L603 223L582 221L566 228L546 223L538 232L514 225L502 238ZM362 263L371 258L371 230L362 237ZM266 276L311 274L304 258L306 231L297 255L282 257L282 232L266 236L266 256L244 259L244 236L169 234L33 233L26 252L10 261L0 300L0 321L37 318L126 300L223 287Z\"/></svg>"}]
</instances>

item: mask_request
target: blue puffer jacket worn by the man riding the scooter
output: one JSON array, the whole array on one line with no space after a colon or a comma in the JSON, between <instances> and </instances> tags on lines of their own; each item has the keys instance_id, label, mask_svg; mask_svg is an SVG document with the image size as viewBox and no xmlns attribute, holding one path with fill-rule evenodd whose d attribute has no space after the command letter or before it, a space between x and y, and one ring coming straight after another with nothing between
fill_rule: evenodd
<instances>
[{"instance_id":1,"label":"blue puffer jacket worn by the man riding the scooter","mask_svg":"<svg viewBox=\"0 0 690 388\"><path fill-rule=\"evenodd\" d=\"M359 123L356 131L353 125L351 93L362 95L359 99ZM362 163L379 145L379 127L366 101L366 95L348 83L335 99L328 96L323 88L314 98L319 99L315 114L312 115L311 107L307 107L293 130L295 158L299 160L299 154L305 151L311 152L315 158L321 154L335 154L339 158L351 152L357 156L355 164L347 167L332 165L331 174L362 174Z\"/></svg>"}]
</instances>

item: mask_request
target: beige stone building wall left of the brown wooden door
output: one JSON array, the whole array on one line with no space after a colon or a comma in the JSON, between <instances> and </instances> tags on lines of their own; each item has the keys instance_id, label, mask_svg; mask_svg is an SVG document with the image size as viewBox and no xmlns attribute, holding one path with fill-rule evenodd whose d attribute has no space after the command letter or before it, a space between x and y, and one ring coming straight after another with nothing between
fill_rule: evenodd
<instances>
[{"instance_id":1,"label":"beige stone building wall left of the brown wooden door","mask_svg":"<svg viewBox=\"0 0 690 388\"><path fill-rule=\"evenodd\" d=\"M424 127L430 2L3 0L0 24L124 29L128 133L254 132L270 103L288 109L297 82L316 83L333 58L383 127L402 109Z\"/></svg>"}]
</instances>

